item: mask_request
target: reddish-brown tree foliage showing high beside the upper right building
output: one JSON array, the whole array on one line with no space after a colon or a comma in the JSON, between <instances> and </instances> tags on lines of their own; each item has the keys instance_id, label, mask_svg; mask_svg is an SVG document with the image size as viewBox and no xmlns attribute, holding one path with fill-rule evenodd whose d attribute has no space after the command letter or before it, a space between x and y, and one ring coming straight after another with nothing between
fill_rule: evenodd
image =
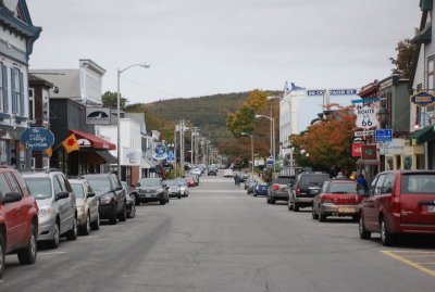
<instances>
[{"instance_id":1,"label":"reddish-brown tree foliage showing high beside the upper right building","mask_svg":"<svg viewBox=\"0 0 435 292\"><path fill-rule=\"evenodd\" d=\"M396 46L396 58L389 58L391 64L395 65L395 68L391 69L394 74L399 74L403 78L410 78L411 69L413 66L414 54L417 50L417 45L412 42L411 39L407 38L400 40Z\"/></svg>"}]
</instances>

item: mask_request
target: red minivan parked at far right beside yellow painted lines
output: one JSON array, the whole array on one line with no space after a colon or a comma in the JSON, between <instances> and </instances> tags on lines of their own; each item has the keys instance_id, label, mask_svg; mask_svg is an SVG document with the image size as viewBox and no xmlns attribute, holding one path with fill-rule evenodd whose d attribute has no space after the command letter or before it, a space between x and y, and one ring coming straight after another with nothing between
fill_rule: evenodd
<instances>
[{"instance_id":1,"label":"red minivan parked at far right beside yellow painted lines","mask_svg":"<svg viewBox=\"0 0 435 292\"><path fill-rule=\"evenodd\" d=\"M393 170L378 174L362 201L359 233L381 233L393 245L401 233L435 234L435 172Z\"/></svg>"}]
</instances>

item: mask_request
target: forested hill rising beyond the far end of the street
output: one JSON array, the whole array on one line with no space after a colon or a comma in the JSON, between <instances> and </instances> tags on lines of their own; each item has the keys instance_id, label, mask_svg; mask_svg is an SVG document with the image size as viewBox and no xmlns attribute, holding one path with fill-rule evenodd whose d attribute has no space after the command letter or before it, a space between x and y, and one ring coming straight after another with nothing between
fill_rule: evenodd
<instances>
[{"instance_id":1,"label":"forested hill rising beyond the far end of the street","mask_svg":"<svg viewBox=\"0 0 435 292\"><path fill-rule=\"evenodd\" d=\"M185 119L199 127L200 135L219 143L231 134L226 130L226 115L236 112L249 92L215 94L190 99L162 100L145 104L159 118L167 122Z\"/></svg>"}]
</instances>

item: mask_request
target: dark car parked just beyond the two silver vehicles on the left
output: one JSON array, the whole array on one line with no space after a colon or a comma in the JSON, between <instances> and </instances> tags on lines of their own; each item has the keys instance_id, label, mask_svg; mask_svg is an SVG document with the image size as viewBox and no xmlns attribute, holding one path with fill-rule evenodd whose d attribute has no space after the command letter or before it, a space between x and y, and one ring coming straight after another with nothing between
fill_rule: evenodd
<instances>
[{"instance_id":1,"label":"dark car parked just beyond the two silver vehicles on the left","mask_svg":"<svg viewBox=\"0 0 435 292\"><path fill-rule=\"evenodd\" d=\"M82 175L99 199L100 219L117 224L127 219L127 194L113 173Z\"/></svg>"}]
</instances>

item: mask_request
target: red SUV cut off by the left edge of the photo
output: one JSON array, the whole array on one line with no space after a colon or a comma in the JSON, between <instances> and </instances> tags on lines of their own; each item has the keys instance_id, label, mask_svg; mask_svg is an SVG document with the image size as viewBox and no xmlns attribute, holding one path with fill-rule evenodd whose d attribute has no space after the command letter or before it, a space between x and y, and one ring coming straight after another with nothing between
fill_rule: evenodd
<instances>
[{"instance_id":1,"label":"red SUV cut off by the left edge of the photo","mask_svg":"<svg viewBox=\"0 0 435 292\"><path fill-rule=\"evenodd\" d=\"M4 256L16 253L22 265L37 256L38 205L23 177L12 168L0 167L0 279Z\"/></svg>"}]
</instances>

